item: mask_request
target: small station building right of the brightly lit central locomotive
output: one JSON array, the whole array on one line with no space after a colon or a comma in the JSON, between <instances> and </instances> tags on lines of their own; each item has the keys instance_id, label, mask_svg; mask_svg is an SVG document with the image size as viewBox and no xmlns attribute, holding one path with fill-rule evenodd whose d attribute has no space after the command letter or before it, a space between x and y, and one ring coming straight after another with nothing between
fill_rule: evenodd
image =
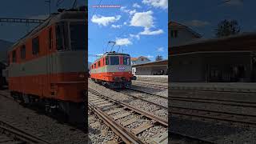
<instances>
[{"instance_id":1,"label":"small station building right of the brightly lit central locomotive","mask_svg":"<svg viewBox=\"0 0 256 144\"><path fill-rule=\"evenodd\" d=\"M166 75L168 74L168 60L146 62L132 66L134 75Z\"/></svg>"}]
</instances>

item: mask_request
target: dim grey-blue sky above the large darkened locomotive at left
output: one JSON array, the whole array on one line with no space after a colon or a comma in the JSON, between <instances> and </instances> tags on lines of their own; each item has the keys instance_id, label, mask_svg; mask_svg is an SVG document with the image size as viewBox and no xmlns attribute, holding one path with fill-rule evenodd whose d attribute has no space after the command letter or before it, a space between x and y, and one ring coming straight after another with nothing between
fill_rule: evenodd
<instances>
[{"instance_id":1,"label":"dim grey-blue sky above the large darkened locomotive at left","mask_svg":"<svg viewBox=\"0 0 256 144\"><path fill-rule=\"evenodd\" d=\"M57 5L57 2L61 2ZM51 12L57 12L58 8L70 8L74 0L51 0ZM84 6L85 0L78 0L78 6ZM0 18L47 18L49 6L45 0L8 0L1 1ZM0 39L16 42L37 24L26 23L0 23Z\"/></svg>"}]
</instances>

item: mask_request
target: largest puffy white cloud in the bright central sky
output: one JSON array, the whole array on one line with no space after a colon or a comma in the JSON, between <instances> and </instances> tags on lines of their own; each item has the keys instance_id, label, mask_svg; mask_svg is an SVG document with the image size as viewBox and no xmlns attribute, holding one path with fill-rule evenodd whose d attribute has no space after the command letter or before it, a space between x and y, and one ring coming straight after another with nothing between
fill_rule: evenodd
<instances>
[{"instance_id":1,"label":"largest puffy white cloud in the bright central sky","mask_svg":"<svg viewBox=\"0 0 256 144\"><path fill-rule=\"evenodd\" d=\"M153 22L153 11L149 10L147 12L135 13L133 18L131 18L130 26L142 26L142 27L152 27Z\"/></svg>"}]
</instances>

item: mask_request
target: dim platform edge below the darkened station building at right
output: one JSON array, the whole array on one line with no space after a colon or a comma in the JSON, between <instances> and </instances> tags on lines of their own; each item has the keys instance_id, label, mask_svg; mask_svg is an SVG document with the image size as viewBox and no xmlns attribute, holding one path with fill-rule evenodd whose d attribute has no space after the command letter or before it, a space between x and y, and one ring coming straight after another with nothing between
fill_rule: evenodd
<instances>
[{"instance_id":1,"label":"dim platform edge below the darkened station building at right","mask_svg":"<svg viewBox=\"0 0 256 144\"><path fill-rule=\"evenodd\" d=\"M170 82L171 90L210 90L256 93L256 82Z\"/></svg>"}]
</instances>

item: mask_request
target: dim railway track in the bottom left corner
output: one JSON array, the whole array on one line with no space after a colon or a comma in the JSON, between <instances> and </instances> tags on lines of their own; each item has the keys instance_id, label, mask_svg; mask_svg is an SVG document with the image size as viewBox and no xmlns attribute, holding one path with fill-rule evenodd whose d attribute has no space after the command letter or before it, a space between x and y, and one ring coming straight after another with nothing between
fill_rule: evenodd
<instances>
[{"instance_id":1,"label":"dim railway track in the bottom left corner","mask_svg":"<svg viewBox=\"0 0 256 144\"><path fill-rule=\"evenodd\" d=\"M32 134L26 133L26 131L20 130L14 126L0 121L0 143L10 144L25 144L25 143L38 143L38 144L50 144L45 140L35 137Z\"/></svg>"}]
</instances>

